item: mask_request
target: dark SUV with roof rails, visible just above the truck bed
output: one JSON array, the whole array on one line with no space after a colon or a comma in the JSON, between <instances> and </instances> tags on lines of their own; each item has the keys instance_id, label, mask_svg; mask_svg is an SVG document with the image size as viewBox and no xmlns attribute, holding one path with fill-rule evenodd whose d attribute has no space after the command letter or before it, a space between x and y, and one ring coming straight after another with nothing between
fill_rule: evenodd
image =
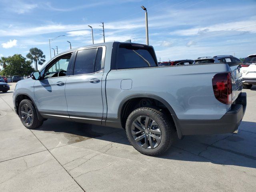
<instances>
[{"instance_id":1,"label":"dark SUV with roof rails, visible just above the truck bed","mask_svg":"<svg viewBox=\"0 0 256 192\"><path fill-rule=\"evenodd\" d=\"M195 60L194 64L226 63L226 62L242 62L242 61L232 55L216 55L214 57L198 57Z\"/></svg>"}]
</instances>

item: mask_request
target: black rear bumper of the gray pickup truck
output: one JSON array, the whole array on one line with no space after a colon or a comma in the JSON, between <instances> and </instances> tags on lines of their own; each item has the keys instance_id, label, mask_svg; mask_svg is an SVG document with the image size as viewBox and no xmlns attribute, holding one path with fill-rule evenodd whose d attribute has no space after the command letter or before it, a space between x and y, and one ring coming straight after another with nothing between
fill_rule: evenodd
<instances>
[{"instance_id":1,"label":"black rear bumper of the gray pickup truck","mask_svg":"<svg viewBox=\"0 0 256 192\"><path fill-rule=\"evenodd\" d=\"M246 110L246 93L241 93L235 104L217 120L178 120L176 126L183 135L232 133L238 130ZM180 135L179 135L180 138Z\"/></svg>"}]
</instances>

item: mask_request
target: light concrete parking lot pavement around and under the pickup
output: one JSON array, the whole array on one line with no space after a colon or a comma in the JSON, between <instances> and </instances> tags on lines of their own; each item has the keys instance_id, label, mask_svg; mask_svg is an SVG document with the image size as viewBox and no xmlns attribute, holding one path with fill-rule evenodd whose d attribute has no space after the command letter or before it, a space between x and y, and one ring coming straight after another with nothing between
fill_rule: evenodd
<instances>
[{"instance_id":1,"label":"light concrete parking lot pavement around and under the pickup","mask_svg":"<svg viewBox=\"0 0 256 192\"><path fill-rule=\"evenodd\" d=\"M256 191L256 86L238 134L186 136L159 157L124 130L50 120L26 129L0 93L0 191Z\"/></svg>"}]
</instances>

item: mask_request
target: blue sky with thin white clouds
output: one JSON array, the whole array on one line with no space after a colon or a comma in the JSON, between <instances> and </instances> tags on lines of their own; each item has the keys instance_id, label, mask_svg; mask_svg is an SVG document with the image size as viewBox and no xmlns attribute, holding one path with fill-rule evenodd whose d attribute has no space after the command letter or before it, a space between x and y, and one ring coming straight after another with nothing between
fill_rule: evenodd
<instances>
[{"instance_id":1,"label":"blue sky with thin white clouds","mask_svg":"<svg viewBox=\"0 0 256 192\"><path fill-rule=\"evenodd\" d=\"M59 53L103 42L145 43L144 10L148 10L149 43L162 60L195 59L256 52L256 0L0 0L0 56L40 48L50 59L48 39ZM52 52L53 55L53 52ZM39 67L40 68L40 67Z\"/></svg>"}]
</instances>

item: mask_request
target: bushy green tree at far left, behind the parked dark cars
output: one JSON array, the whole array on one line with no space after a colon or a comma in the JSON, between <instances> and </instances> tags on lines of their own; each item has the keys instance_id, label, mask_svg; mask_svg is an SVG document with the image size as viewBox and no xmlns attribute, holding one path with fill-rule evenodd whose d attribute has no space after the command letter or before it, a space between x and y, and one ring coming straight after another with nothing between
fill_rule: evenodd
<instances>
[{"instance_id":1,"label":"bushy green tree at far left, behind the parked dark cars","mask_svg":"<svg viewBox=\"0 0 256 192\"><path fill-rule=\"evenodd\" d=\"M21 54L15 54L6 58L6 67L0 72L4 76L24 76L34 71L32 61L26 60Z\"/></svg>"}]
</instances>

